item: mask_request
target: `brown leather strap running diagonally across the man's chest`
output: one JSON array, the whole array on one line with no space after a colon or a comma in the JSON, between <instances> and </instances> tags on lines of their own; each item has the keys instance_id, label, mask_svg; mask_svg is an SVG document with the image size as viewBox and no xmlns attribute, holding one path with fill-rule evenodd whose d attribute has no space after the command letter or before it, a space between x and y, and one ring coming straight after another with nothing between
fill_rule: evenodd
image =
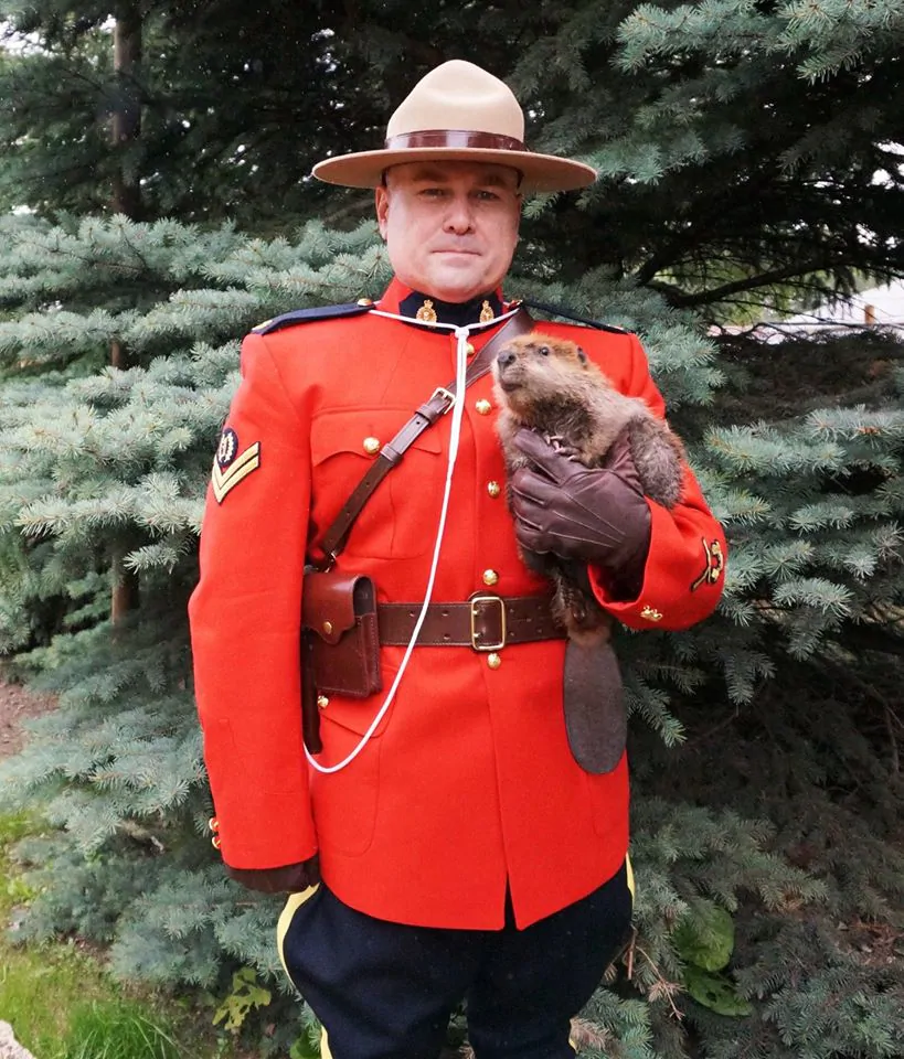
<instances>
[{"instance_id":1,"label":"brown leather strap running diagonally across the man's chest","mask_svg":"<svg viewBox=\"0 0 904 1059\"><path fill-rule=\"evenodd\" d=\"M492 366L493 359L506 342L511 341L519 334L527 334L533 328L533 319L527 309L519 308L518 311L507 321L506 325L498 331L489 342L480 350L468 367L465 376L465 388L482 378ZM387 441L380 450L380 454L368 469L366 474L358 483L358 488L342 505L342 510L336 517L336 521L323 534L321 548L326 555L326 568L329 569L336 561L336 557L345 546L345 539L351 531L354 520L361 514L364 504L370 500L371 494L390 471L397 467L406 450L421 435L440 419L455 403L456 385L453 379L447 386L440 386L435 389L428 400L426 400L415 411L404 427ZM322 568L322 567L321 567Z\"/></svg>"}]
</instances>

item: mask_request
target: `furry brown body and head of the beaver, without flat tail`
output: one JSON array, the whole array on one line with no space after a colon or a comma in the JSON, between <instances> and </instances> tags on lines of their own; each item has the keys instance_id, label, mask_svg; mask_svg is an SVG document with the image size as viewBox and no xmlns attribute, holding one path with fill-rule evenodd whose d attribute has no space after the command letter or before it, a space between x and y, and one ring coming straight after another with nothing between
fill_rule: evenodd
<instances>
[{"instance_id":1,"label":"furry brown body and head of the beaver, without flat tail","mask_svg":"<svg viewBox=\"0 0 904 1059\"><path fill-rule=\"evenodd\" d=\"M536 430L585 467L602 467L613 442L626 431L645 494L666 507L678 503L681 442L644 400L620 394L579 345L538 332L521 335L500 350L492 373L500 405L497 430L510 482L514 471L530 462L514 445L521 427ZM524 552L522 557L552 579L553 616L570 639L584 645L608 640L610 622L583 564Z\"/></svg>"}]
</instances>

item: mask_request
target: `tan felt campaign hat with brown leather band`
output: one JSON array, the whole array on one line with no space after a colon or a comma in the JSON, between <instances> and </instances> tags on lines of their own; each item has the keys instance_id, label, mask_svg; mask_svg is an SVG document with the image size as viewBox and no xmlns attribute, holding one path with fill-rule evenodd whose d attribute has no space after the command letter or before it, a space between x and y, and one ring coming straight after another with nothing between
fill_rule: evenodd
<instances>
[{"instance_id":1,"label":"tan felt campaign hat with brown leather band","mask_svg":"<svg viewBox=\"0 0 904 1059\"><path fill-rule=\"evenodd\" d=\"M524 145L524 115L509 86L486 69L451 60L418 81L386 127L379 151L328 158L313 175L347 188L375 188L390 165L418 161L492 162L521 173L524 192L572 191L596 170Z\"/></svg>"}]
</instances>

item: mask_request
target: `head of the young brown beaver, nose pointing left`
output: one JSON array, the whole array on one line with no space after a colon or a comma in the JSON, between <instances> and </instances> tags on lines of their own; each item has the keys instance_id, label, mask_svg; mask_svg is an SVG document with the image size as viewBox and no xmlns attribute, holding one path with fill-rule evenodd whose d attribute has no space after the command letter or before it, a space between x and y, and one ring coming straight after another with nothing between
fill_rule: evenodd
<instances>
[{"instance_id":1,"label":"head of the young brown beaver, nose pointing left","mask_svg":"<svg viewBox=\"0 0 904 1059\"><path fill-rule=\"evenodd\" d=\"M500 403L522 422L534 425L553 408L584 404L587 376L598 370L576 343L534 332L507 342L492 373Z\"/></svg>"}]
</instances>

